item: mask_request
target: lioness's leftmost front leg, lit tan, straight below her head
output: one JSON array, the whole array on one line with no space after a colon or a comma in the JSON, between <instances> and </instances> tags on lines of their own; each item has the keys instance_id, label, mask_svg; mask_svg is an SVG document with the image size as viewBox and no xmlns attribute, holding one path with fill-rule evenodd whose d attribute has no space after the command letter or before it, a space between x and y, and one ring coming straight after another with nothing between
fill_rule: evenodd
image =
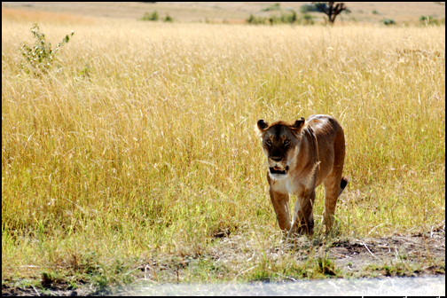
<instances>
[{"instance_id":1,"label":"lioness's leftmost front leg, lit tan, straight below her head","mask_svg":"<svg viewBox=\"0 0 447 298\"><path fill-rule=\"evenodd\" d=\"M291 226L288 208L289 194L286 191L285 183L271 179L268 173L267 180L270 184L271 204L275 209L279 228L283 231L289 231Z\"/></svg>"}]
</instances>

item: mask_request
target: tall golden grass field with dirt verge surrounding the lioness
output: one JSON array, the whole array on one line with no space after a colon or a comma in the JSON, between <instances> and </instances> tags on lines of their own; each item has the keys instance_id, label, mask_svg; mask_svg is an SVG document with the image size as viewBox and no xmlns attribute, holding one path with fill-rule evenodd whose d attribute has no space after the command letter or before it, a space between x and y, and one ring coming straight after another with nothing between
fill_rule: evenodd
<instances>
[{"instance_id":1,"label":"tall golden grass field with dirt verge surrounding the lioness","mask_svg":"<svg viewBox=\"0 0 447 298\"><path fill-rule=\"evenodd\" d=\"M38 21L60 48L20 68ZM2 294L445 274L445 27L2 10ZM285 243L255 122L331 114L337 228ZM293 204L294 201L291 201Z\"/></svg>"}]
</instances>

